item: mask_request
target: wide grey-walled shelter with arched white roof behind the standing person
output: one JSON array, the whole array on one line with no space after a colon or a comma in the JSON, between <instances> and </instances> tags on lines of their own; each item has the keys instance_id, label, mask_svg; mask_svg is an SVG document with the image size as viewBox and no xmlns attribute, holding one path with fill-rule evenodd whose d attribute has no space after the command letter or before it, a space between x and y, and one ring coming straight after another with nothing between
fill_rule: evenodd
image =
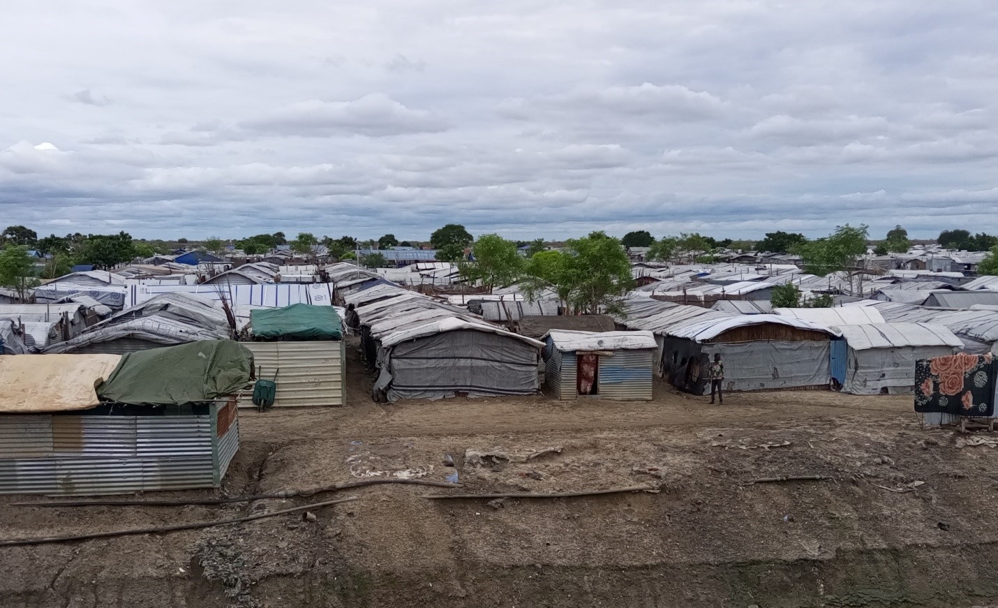
<instances>
[{"instance_id":1,"label":"wide grey-walled shelter with arched white roof behind the standing person","mask_svg":"<svg viewBox=\"0 0 998 608\"><path fill-rule=\"evenodd\" d=\"M661 369L677 388L707 394L710 361L719 353L725 390L827 387L829 338L839 334L777 314L695 316L663 330Z\"/></svg>"}]
</instances>

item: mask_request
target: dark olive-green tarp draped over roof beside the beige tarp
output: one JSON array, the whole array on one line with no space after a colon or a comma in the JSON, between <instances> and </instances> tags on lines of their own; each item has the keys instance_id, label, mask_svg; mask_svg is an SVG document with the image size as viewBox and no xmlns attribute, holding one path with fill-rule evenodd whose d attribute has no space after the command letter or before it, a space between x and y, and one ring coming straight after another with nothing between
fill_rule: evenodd
<instances>
[{"instance_id":1,"label":"dark olive-green tarp draped over roof beside the beige tarp","mask_svg":"<svg viewBox=\"0 0 998 608\"><path fill-rule=\"evenodd\" d=\"M233 394L250 382L252 353L231 339L150 348L122 357L97 387L103 401L177 405Z\"/></svg>"}]
</instances>

